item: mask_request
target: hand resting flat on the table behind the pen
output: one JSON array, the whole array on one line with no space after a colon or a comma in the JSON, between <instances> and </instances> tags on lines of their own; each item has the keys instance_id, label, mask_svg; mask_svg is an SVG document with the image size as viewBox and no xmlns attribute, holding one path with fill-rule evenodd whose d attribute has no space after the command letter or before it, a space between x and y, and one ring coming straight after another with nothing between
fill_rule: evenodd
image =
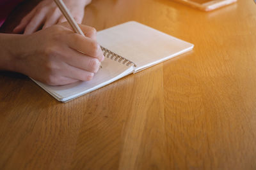
<instances>
[{"instance_id":1,"label":"hand resting flat on the table behind the pen","mask_svg":"<svg viewBox=\"0 0 256 170\"><path fill-rule=\"evenodd\" d=\"M92 0L63 0L68 10L78 24L81 24L84 16L84 7ZM53 0L43 0L28 15L22 18L14 33L24 31L24 34L32 34L42 27L45 29L54 24L65 22L66 18L62 15L58 6Z\"/></svg>"}]
</instances>

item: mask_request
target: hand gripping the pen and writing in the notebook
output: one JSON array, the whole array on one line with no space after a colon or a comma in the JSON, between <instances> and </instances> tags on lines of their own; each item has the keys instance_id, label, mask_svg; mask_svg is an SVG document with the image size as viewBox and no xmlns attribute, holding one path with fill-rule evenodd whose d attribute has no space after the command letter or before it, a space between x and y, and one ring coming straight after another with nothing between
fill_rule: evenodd
<instances>
[{"instance_id":1,"label":"hand gripping the pen and writing in the notebook","mask_svg":"<svg viewBox=\"0 0 256 170\"><path fill-rule=\"evenodd\" d=\"M13 71L48 85L92 80L104 55L95 29L79 26L86 37L74 33L67 22L20 36L15 41L19 46L15 45Z\"/></svg>"}]
</instances>

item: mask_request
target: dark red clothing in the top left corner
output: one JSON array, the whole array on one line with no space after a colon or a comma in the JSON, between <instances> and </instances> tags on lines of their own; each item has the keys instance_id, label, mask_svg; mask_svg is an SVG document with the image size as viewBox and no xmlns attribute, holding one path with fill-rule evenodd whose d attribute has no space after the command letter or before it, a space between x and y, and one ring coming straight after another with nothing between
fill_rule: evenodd
<instances>
[{"instance_id":1,"label":"dark red clothing in the top left corner","mask_svg":"<svg viewBox=\"0 0 256 170\"><path fill-rule=\"evenodd\" d=\"M11 11L22 0L0 0L0 27L4 24L4 21L11 13Z\"/></svg>"}]
</instances>

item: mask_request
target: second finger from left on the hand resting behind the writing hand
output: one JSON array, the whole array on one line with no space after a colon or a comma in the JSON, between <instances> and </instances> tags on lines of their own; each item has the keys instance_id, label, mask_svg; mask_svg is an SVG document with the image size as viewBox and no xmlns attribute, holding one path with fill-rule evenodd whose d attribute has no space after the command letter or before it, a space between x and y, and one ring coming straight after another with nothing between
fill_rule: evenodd
<instances>
[{"instance_id":1,"label":"second finger from left on the hand resting behind the writing hand","mask_svg":"<svg viewBox=\"0 0 256 170\"><path fill-rule=\"evenodd\" d=\"M26 26L24 34L32 34L33 32L37 31L45 20L45 11L40 10L35 16L31 19L29 24Z\"/></svg>"}]
</instances>

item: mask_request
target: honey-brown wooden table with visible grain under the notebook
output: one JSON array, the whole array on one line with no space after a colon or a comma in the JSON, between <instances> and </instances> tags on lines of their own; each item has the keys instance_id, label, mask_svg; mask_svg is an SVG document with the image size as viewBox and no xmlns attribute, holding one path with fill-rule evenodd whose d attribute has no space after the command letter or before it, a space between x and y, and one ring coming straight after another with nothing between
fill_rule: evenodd
<instances>
[{"instance_id":1,"label":"honey-brown wooden table with visible grain under the notebook","mask_svg":"<svg viewBox=\"0 0 256 170\"><path fill-rule=\"evenodd\" d=\"M83 24L129 20L195 48L65 104L1 72L0 169L256 168L253 1L206 13L170 0L93 0Z\"/></svg>"}]
</instances>

